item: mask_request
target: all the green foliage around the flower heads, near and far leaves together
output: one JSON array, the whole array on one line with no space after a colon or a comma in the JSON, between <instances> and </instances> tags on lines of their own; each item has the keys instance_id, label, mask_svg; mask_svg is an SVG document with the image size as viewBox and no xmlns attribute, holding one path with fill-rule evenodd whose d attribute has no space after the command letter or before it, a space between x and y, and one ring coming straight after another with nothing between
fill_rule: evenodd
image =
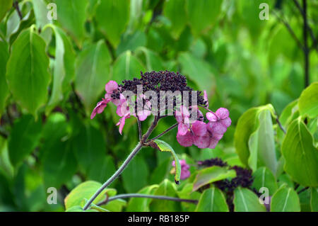
<instances>
[{"instance_id":1,"label":"all the green foliage around the flower heads, near and far leaves together","mask_svg":"<svg viewBox=\"0 0 318 226\"><path fill-rule=\"evenodd\" d=\"M57 4L57 20L47 18L49 2ZM259 19L261 2L269 4L268 21ZM316 0L307 1L316 40L317 9ZM232 171L198 172L196 166L219 157L252 169L253 188L269 188L272 211L318 210L317 41L308 32L311 85L304 91L303 50L282 22L305 45L302 14L293 1L0 0L0 20L0 211L83 205L138 142L136 120L127 120L119 135L111 105L90 120L105 83L165 69L206 89L210 108L228 108L232 125L216 149L181 147L175 131L163 137L191 165L192 176L181 185L170 174L171 155L146 148L107 194L139 192L199 203L131 198L103 208L228 211L226 194L213 182ZM172 123L173 118L160 122L153 135ZM199 179L210 188L192 192ZM56 205L47 204L49 187L58 190ZM265 210L248 188L236 188L232 203L235 211Z\"/></svg>"}]
</instances>

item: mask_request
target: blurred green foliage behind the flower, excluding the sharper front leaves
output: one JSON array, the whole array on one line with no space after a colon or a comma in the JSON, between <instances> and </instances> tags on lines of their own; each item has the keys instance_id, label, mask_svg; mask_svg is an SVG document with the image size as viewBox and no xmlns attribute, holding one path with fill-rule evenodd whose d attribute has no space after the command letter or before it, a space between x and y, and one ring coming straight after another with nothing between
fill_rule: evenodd
<instances>
[{"instance_id":1,"label":"blurred green foliage behind the flower, excluding the sharper front leaves","mask_svg":"<svg viewBox=\"0 0 318 226\"><path fill-rule=\"evenodd\" d=\"M181 72L194 89L208 92L210 109L229 109L232 125L216 149L184 148L175 131L163 137L192 163L222 157L240 165L233 146L240 115L266 103L279 115L305 88L304 54L284 24L303 43L302 14L293 1L15 2L0 0L0 211L61 211L76 185L112 175L138 132L130 118L119 135L111 104L90 120L110 79ZM57 20L47 18L54 16L51 2ZM259 18L263 2L269 20ZM307 1L316 39L317 9L318 1ZM318 81L310 34L308 45L310 82ZM150 123L143 122L143 130ZM153 136L172 123L172 117L160 121ZM146 148L111 187L134 193L165 178L173 181L170 169L169 154ZM47 204L49 187L57 188L57 205Z\"/></svg>"}]
</instances>

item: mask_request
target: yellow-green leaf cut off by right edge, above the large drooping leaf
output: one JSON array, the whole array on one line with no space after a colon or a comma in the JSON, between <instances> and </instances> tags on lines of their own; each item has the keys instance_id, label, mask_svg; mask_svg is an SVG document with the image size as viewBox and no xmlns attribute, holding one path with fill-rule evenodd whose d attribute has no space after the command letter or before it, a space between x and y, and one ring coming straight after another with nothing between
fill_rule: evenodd
<instances>
[{"instance_id":1,"label":"yellow-green leaf cut off by right edge, above the large drooping leaf","mask_svg":"<svg viewBox=\"0 0 318 226\"><path fill-rule=\"evenodd\" d=\"M302 91L298 106L300 115L308 115L310 118L318 116L318 82L312 83Z\"/></svg>"}]
</instances>

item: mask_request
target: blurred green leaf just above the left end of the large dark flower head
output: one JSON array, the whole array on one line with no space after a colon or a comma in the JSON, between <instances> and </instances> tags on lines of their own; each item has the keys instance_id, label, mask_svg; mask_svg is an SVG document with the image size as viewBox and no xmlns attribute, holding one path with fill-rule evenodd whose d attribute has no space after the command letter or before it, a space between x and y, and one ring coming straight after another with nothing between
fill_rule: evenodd
<instances>
[{"instance_id":1,"label":"blurred green leaf just above the left end of the large dark flower head","mask_svg":"<svg viewBox=\"0 0 318 226\"><path fill-rule=\"evenodd\" d=\"M132 79L133 77L139 76L141 71L144 72L145 67L137 57L131 55L131 52L127 50L114 62L112 79L117 82L124 79Z\"/></svg>"}]
</instances>

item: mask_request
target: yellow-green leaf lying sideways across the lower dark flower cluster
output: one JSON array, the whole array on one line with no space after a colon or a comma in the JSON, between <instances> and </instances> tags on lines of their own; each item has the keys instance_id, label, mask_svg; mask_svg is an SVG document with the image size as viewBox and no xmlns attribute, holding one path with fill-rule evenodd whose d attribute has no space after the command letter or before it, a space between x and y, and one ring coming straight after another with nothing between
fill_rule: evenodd
<instances>
[{"instance_id":1,"label":"yellow-green leaf lying sideways across the lower dark flower cluster","mask_svg":"<svg viewBox=\"0 0 318 226\"><path fill-rule=\"evenodd\" d=\"M196 179L194 179L193 191L198 190L201 186L223 179L231 179L236 176L233 169L226 169L220 166L211 166L198 171Z\"/></svg>"}]
</instances>

